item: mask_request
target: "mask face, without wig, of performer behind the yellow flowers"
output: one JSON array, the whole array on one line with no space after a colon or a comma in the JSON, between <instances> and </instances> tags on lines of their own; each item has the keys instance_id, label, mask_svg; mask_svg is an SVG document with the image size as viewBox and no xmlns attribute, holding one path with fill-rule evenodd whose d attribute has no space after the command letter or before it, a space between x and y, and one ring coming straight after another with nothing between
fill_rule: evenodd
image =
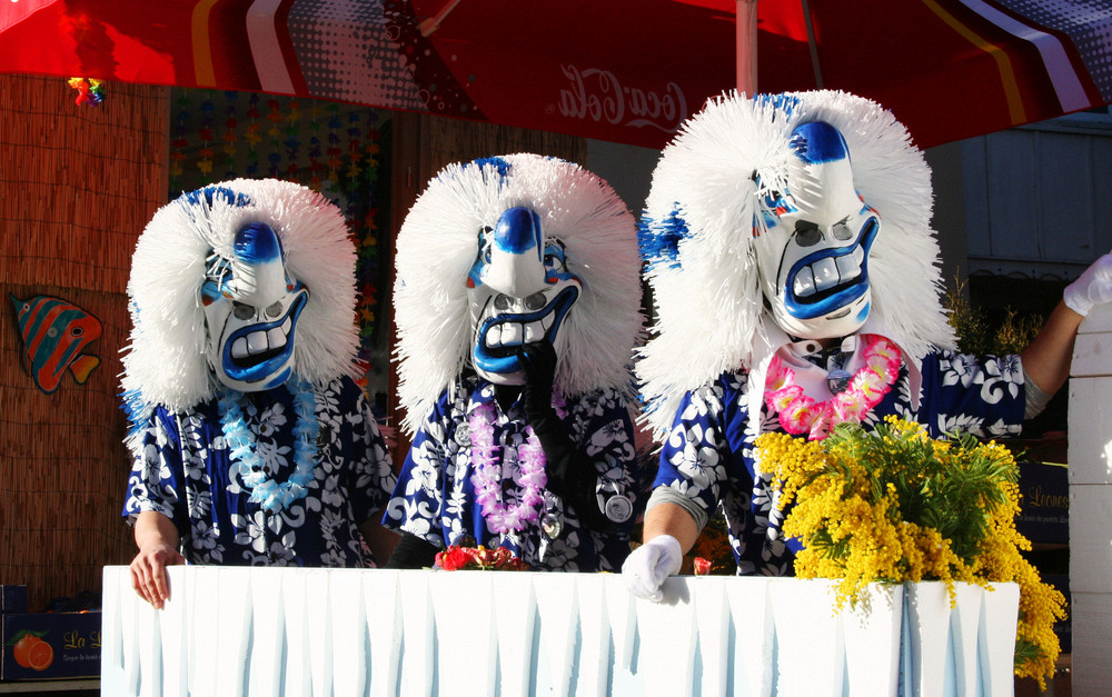
<instances>
[{"instance_id":1,"label":"mask face, without wig, of performer behind the yellow flowers","mask_svg":"<svg viewBox=\"0 0 1112 697\"><path fill-rule=\"evenodd\" d=\"M853 186L845 139L822 121L792 133L787 191L767 200L767 231L754 240L773 318L801 339L853 333L868 317L868 251L880 217Z\"/></svg>"}]
</instances>

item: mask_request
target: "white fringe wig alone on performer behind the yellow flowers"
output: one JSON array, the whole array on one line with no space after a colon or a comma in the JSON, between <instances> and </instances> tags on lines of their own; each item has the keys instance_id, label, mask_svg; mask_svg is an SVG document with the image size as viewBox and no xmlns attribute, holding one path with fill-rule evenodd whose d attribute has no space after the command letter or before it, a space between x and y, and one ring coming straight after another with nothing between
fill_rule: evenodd
<instances>
[{"instance_id":1,"label":"white fringe wig alone on performer behind the yellow flowers","mask_svg":"<svg viewBox=\"0 0 1112 697\"><path fill-rule=\"evenodd\" d=\"M903 125L840 91L723 94L662 152L642 219L656 323L637 376L657 439L685 392L776 348L781 332L765 309L751 242L771 213L762 210L765 193L784 191L795 157L788 136L808 121L845 137L854 186L881 218L868 261L872 310L861 331L891 338L916 360L954 346L930 227L931 172Z\"/></svg>"}]
</instances>

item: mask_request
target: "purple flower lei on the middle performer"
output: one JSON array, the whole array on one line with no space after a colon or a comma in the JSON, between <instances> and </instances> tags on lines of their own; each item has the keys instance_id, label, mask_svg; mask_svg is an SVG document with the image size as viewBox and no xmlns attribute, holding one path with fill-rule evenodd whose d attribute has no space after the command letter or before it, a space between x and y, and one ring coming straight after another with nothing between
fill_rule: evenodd
<instances>
[{"instance_id":1,"label":"purple flower lei on the middle performer","mask_svg":"<svg viewBox=\"0 0 1112 697\"><path fill-rule=\"evenodd\" d=\"M539 517L539 505L544 502L540 490L548 482L545 474L545 451L540 447L533 428L526 426L526 440L517 447L518 468L520 476L517 484L517 502L504 504L502 499L502 458L498 451L502 446L494 442L494 402L476 407L468 418L471 436L471 485L475 487L475 500L483 507L483 518L492 531L504 534L510 530L523 530L529 522Z\"/></svg>"}]
</instances>

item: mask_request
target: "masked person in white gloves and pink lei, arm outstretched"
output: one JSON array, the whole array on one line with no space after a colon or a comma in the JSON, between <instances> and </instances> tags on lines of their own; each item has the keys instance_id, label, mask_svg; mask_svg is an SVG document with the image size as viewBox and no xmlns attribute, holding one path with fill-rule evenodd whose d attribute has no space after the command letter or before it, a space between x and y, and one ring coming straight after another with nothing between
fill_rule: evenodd
<instances>
[{"instance_id":1,"label":"masked person in white gloves and pink lei, arm outstretched","mask_svg":"<svg viewBox=\"0 0 1112 697\"><path fill-rule=\"evenodd\" d=\"M1112 297L1110 259L1022 357L959 355L931 208L906 129L844 92L723 96L665 148L642 220L657 323L636 370L662 449L623 569L635 595L662 598L719 506L738 574L793 572L763 431L821 439L895 415L995 438L1062 386L1082 315Z\"/></svg>"}]
</instances>

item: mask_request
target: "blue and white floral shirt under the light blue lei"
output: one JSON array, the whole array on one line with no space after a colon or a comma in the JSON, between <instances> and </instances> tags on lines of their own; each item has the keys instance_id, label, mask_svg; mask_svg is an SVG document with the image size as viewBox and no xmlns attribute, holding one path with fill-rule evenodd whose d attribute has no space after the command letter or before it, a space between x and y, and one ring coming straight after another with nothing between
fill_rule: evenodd
<instances>
[{"instance_id":1,"label":"blue and white floral shirt under the light blue lei","mask_svg":"<svg viewBox=\"0 0 1112 697\"><path fill-rule=\"evenodd\" d=\"M381 509L395 476L378 426L349 378L315 390L317 461L308 495L267 512L230 461L218 400L185 412L159 407L128 479L123 515L173 521L193 564L374 567L359 525ZM294 472L294 396L285 387L245 395L244 420L270 477Z\"/></svg>"}]
</instances>

